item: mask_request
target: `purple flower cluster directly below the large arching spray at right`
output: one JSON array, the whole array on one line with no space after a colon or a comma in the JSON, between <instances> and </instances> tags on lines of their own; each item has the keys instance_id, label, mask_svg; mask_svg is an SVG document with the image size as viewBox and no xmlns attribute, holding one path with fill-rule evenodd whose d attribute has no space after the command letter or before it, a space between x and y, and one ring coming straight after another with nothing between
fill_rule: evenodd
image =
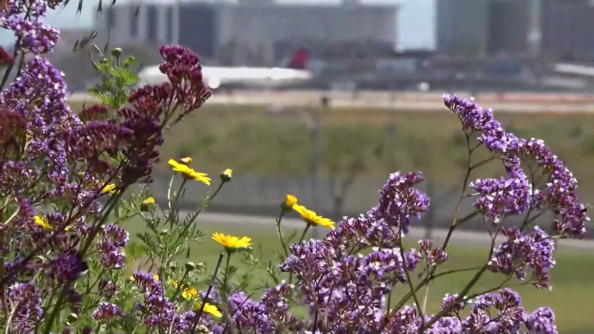
<instances>
[{"instance_id":1,"label":"purple flower cluster directly below the large arching spray at right","mask_svg":"<svg viewBox=\"0 0 594 334\"><path fill-rule=\"evenodd\" d=\"M489 260L488 269L505 275L514 275L524 281L526 269L532 269L532 282L538 288L550 288L549 270L555 265L555 242L535 226L532 234L516 228L504 229L508 240L499 245Z\"/></svg>"}]
</instances>

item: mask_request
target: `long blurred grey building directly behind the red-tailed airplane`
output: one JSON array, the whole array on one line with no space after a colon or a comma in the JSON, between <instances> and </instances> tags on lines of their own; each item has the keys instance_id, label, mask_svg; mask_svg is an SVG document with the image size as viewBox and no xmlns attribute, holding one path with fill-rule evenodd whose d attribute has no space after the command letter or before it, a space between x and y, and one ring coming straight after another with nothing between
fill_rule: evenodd
<instances>
[{"instance_id":1,"label":"long blurred grey building directly behind the red-tailed airplane","mask_svg":"<svg viewBox=\"0 0 594 334\"><path fill-rule=\"evenodd\" d=\"M277 65L292 49L314 53L391 52L397 5L277 4L273 0L204 2L122 0L100 23L115 43L188 46L219 65ZM113 33L117 31L117 33ZM352 54L350 55L352 56Z\"/></svg>"}]
</instances>

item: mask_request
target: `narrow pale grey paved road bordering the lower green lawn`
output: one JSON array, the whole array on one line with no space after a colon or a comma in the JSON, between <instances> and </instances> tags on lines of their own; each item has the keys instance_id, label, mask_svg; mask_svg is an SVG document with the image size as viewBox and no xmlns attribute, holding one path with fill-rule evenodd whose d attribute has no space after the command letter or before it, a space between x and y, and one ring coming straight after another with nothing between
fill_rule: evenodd
<instances>
[{"instance_id":1,"label":"narrow pale grey paved road bordering the lower green lawn","mask_svg":"<svg viewBox=\"0 0 594 334\"><path fill-rule=\"evenodd\" d=\"M261 226L262 228L274 226L274 218L264 216L249 216L249 215L234 215L228 213L210 213L204 212L198 217L198 222L226 224L226 225L242 225L242 226ZM283 218L282 225L284 228L303 228L304 222L301 219ZM447 235L446 229L434 229L432 231L432 239L435 241L443 241ZM410 228L409 237L413 239L421 239L425 237L424 228ZM503 238L498 238L503 241ZM474 231L455 231L451 237L452 244L465 245L488 245L491 242L489 235L484 232ZM573 249L573 250L592 250L594 249L594 240L560 240L557 244L559 249Z\"/></svg>"}]
</instances>

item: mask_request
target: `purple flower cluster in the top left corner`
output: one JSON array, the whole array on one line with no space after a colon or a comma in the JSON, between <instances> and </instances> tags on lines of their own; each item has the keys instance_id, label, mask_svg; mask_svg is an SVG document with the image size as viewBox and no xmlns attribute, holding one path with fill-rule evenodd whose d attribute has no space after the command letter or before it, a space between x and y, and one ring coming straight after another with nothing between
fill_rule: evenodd
<instances>
[{"instance_id":1,"label":"purple flower cluster in the top left corner","mask_svg":"<svg viewBox=\"0 0 594 334\"><path fill-rule=\"evenodd\" d=\"M58 42L59 31L42 22L48 7L45 0L11 0L8 8L0 11L2 27L12 30L20 41L16 45L17 49L30 51L34 55L52 51Z\"/></svg>"}]
</instances>

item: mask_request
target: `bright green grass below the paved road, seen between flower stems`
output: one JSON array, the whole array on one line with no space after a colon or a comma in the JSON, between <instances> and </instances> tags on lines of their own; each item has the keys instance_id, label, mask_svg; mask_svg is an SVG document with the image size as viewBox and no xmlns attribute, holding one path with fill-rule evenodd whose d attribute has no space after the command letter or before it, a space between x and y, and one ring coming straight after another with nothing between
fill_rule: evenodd
<instances>
[{"instance_id":1,"label":"bright green grass below the paved road, seen between flower stems","mask_svg":"<svg viewBox=\"0 0 594 334\"><path fill-rule=\"evenodd\" d=\"M132 221L125 225L132 232L141 231L142 223ZM200 218L198 218L200 224ZM192 247L190 260L195 263L203 262L213 269L222 247L210 239L210 235L217 231L237 236L247 235L255 243L263 245L262 260L277 260L274 251L280 250L280 242L276 237L274 220L270 220L270 228L238 225L201 226L205 236L203 243ZM416 240L410 240L407 247L418 247ZM453 244L448 248L449 259L440 268L441 270L462 269L478 266L486 260L489 245L484 247L465 247L464 245ZM257 248L257 247L255 247ZM255 254L258 255L258 254ZM517 287L519 281L512 280L508 285L510 288L520 292L523 305L527 311L533 311L539 306L550 305L557 316L557 324L560 333L591 333L594 331L594 318L592 313L594 285L594 256L584 254L575 250L558 251L555 259L557 266L552 270L552 291L539 290L533 286ZM232 264L238 265L239 255L232 258ZM241 266L242 272L249 272L254 282L261 282L268 279L264 270ZM472 272L456 273L438 278L432 283L429 289L428 312L435 313L441 304L445 293L459 292L469 281ZM503 281L503 276L494 273L486 273L479 281L472 292L484 291L485 289L497 286ZM269 279L268 279L269 280ZM270 281L270 280L269 280ZM394 293L393 300L399 301L403 294L406 294L407 287L400 285ZM471 292L471 293L472 293ZM422 295L419 298L422 298ZM412 303L409 302L409 303Z\"/></svg>"}]
</instances>

